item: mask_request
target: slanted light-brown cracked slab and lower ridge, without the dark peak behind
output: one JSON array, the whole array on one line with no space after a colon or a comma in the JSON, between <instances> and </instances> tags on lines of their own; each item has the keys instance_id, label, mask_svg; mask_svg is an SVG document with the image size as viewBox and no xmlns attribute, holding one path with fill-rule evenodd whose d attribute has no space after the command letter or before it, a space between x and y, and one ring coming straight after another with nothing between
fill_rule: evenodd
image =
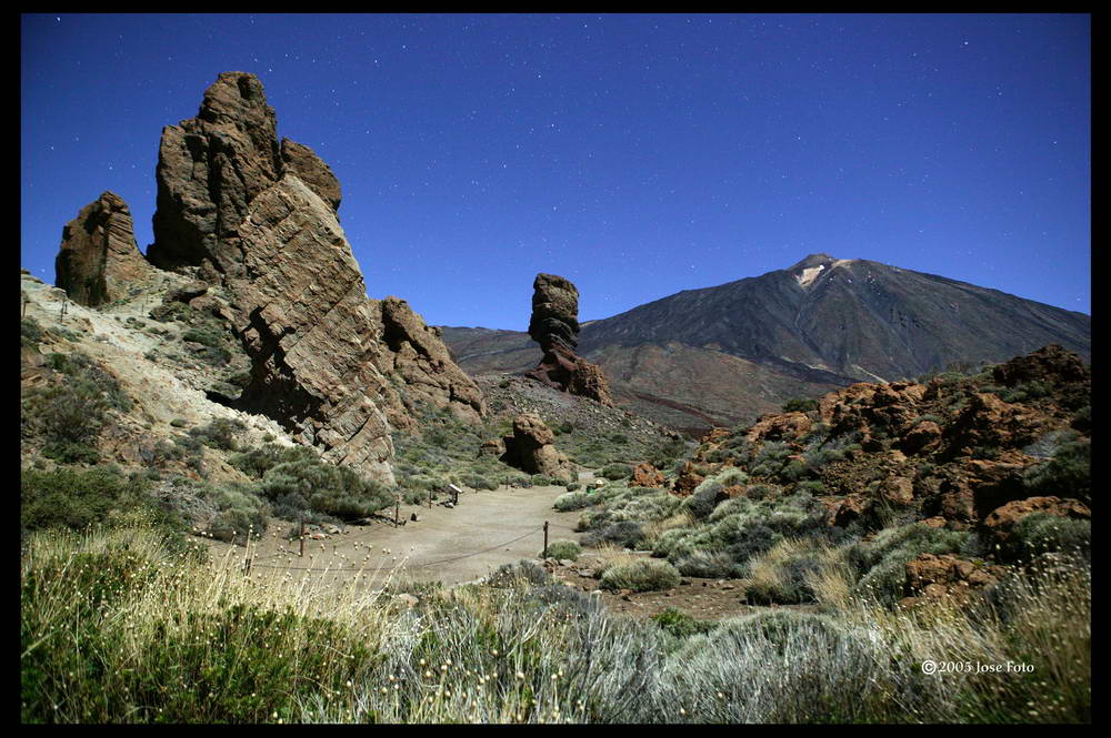
<instances>
[{"instance_id":1,"label":"slanted light-brown cracked slab and lower ridge, without the dark peak behind","mask_svg":"<svg viewBox=\"0 0 1111 738\"><path fill-rule=\"evenodd\" d=\"M260 195L240 233L243 273L227 287L253 365L244 410L382 479L390 429L413 429L421 404L481 416L478 387L420 316L367 297L334 211L301 180L287 174Z\"/></svg>"}]
</instances>

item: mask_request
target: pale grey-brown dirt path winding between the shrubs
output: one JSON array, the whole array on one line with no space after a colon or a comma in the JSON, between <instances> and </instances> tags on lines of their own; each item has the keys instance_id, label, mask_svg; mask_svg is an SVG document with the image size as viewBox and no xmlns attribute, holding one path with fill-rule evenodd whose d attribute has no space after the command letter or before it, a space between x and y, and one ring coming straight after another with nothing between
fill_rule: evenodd
<instances>
[{"instance_id":1,"label":"pale grey-brown dirt path winding between the shrubs","mask_svg":"<svg viewBox=\"0 0 1111 738\"><path fill-rule=\"evenodd\" d=\"M313 584L323 586L342 585L356 576L376 587L387 578L448 586L472 582L502 564L537 558L543 548L544 520L549 540L577 540L573 528L579 513L552 509L552 502L565 492L557 486L502 486L492 492L466 489L454 508L402 505L402 520L412 513L419 519L397 528L383 520L348 526L327 538L306 540L304 558L298 555L298 542L284 539L290 524L274 519L262 540L251 544L252 572L288 574L294 582L311 577ZM246 558L242 546L209 545L213 559L241 566Z\"/></svg>"}]
</instances>

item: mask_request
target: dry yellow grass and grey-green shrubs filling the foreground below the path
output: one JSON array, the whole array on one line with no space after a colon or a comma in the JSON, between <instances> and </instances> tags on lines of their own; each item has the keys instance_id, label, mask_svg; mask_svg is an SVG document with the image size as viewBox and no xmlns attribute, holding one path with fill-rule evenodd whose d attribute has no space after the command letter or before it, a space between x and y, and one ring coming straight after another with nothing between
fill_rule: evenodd
<instances>
[{"instance_id":1,"label":"dry yellow grass and grey-green shrubs filling the foreground below the path","mask_svg":"<svg viewBox=\"0 0 1111 738\"><path fill-rule=\"evenodd\" d=\"M412 609L348 588L318 615L313 584L184 562L144 525L31 535L22 721L1091 720L1091 582L1073 565L974 607L893 617L853 600L709 624L615 618L526 564L487 586L424 588ZM621 580L673 580L655 569ZM1030 671L941 678L927 659Z\"/></svg>"}]
</instances>

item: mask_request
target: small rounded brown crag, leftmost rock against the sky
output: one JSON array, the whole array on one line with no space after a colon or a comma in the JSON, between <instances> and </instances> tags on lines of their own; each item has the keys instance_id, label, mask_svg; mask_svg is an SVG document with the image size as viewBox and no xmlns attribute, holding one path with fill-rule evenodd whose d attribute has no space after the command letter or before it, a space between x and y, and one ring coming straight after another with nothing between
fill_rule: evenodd
<instances>
[{"instance_id":1,"label":"small rounded brown crag, leftmost rock against the sky","mask_svg":"<svg viewBox=\"0 0 1111 738\"><path fill-rule=\"evenodd\" d=\"M62 229L54 272L57 286L89 307L120 300L153 275L122 198L104 192Z\"/></svg>"}]
</instances>

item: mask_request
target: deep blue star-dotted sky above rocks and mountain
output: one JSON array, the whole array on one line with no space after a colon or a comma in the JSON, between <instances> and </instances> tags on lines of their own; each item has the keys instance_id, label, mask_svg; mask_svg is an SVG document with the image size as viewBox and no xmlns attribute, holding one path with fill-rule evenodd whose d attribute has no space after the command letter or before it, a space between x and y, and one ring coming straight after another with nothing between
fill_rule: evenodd
<instances>
[{"instance_id":1,"label":"deep blue star-dotted sky above rocks and mountain","mask_svg":"<svg viewBox=\"0 0 1111 738\"><path fill-rule=\"evenodd\" d=\"M372 297L526 330L825 252L1091 313L1085 14L21 17L21 265L222 71L343 186Z\"/></svg>"}]
</instances>

